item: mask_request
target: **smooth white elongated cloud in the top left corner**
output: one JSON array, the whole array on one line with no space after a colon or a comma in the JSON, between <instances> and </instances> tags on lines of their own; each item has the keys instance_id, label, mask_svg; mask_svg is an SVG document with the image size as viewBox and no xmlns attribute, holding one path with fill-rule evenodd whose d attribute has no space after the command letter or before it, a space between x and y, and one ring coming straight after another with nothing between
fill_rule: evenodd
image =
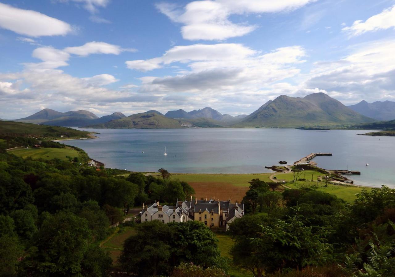
<instances>
[{"instance_id":1,"label":"smooth white elongated cloud in the top left corner","mask_svg":"<svg viewBox=\"0 0 395 277\"><path fill-rule=\"evenodd\" d=\"M70 24L59 19L38 11L14 8L2 3L0 3L0 27L31 37L64 36L72 30Z\"/></svg>"}]
</instances>

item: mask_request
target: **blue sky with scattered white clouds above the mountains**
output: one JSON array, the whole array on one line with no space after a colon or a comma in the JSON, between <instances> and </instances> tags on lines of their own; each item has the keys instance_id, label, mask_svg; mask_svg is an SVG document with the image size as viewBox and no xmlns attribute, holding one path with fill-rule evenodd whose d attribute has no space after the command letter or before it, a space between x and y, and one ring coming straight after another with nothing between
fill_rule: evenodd
<instances>
[{"instance_id":1,"label":"blue sky with scattered white clouds above the mountains","mask_svg":"<svg viewBox=\"0 0 395 277\"><path fill-rule=\"evenodd\" d=\"M0 118L395 101L395 0L0 0Z\"/></svg>"}]
</instances>

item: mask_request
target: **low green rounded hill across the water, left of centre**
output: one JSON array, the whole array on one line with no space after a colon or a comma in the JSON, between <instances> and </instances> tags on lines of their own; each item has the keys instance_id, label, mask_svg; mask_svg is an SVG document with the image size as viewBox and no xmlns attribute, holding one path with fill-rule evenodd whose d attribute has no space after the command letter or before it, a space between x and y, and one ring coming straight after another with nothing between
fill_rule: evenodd
<instances>
[{"instance_id":1,"label":"low green rounded hill across the water, left of centre","mask_svg":"<svg viewBox=\"0 0 395 277\"><path fill-rule=\"evenodd\" d=\"M186 128L180 121L154 112L137 113L128 117L115 119L102 124L88 125L89 128L124 128L124 129L171 129Z\"/></svg>"}]
</instances>

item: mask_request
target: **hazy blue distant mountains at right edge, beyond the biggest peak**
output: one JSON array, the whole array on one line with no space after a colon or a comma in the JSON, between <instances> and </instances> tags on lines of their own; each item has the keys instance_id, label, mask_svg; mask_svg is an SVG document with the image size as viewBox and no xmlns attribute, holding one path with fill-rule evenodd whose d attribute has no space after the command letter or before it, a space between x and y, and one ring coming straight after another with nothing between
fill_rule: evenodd
<instances>
[{"instance_id":1,"label":"hazy blue distant mountains at right edge, beyond the biggest peak","mask_svg":"<svg viewBox=\"0 0 395 277\"><path fill-rule=\"evenodd\" d=\"M365 100L362 100L358 104L348 107L362 115L380 121L395 119L395 102L392 101L376 101L368 103Z\"/></svg>"}]
</instances>

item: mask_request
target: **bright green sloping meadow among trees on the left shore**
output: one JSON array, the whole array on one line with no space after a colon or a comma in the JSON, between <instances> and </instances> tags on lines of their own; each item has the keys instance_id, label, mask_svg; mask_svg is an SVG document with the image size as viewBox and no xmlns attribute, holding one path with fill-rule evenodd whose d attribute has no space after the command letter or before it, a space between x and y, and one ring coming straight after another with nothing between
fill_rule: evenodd
<instances>
[{"instance_id":1,"label":"bright green sloping meadow among trees on the left shore","mask_svg":"<svg viewBox=\"0 0 395 277\"><path fill-rule=\"evenodd\" d=\"M33 159L43 158L46 160L51 160L53 158L68 160L66 156L70 156L71 158L81 158L81 155L78 153L78 151L71 147L17 149L8 151L8 153L20 156L22 158L32 157Z\"/></svg>"}]
</instances>

